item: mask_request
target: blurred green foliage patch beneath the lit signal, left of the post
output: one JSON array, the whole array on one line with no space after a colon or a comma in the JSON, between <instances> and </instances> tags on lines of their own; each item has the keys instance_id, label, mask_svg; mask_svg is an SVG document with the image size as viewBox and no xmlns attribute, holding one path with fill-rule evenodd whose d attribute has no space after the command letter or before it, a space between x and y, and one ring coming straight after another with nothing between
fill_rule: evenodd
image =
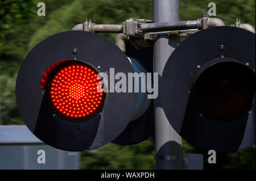
<instances>
[{"instance_id":1,"label":"blurred green foliage patch beneath the lit signal, left of the post","mask_svg":"<svg viewBox=\"0 0 256 181\"><path fill-rule=\"evenodd\" d=\"M80 169L154 169L154 139L141 144L107 144L81 153Z\"/></svg>"}]
</instances>

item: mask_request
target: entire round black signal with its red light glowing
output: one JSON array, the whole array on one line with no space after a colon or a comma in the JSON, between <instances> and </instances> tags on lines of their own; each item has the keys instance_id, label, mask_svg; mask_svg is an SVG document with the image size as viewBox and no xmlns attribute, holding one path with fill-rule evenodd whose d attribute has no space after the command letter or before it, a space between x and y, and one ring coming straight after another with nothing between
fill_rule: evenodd
<instances>
[{"instance_id":1,"label":"entire round black signal with its red light glowing","mask_svg":"<svg viewBox=\"0 0 256 181\"><path fill-rule=\"evenodd\" d=\"M113 68L126 77L146 72L95 33L67 31L43 40L28 53L16 79L24 123L40 140L62 150L96 149L122 132L117 144L143 141L152 135L152 128L143 131L151 100L145 99L146 92L111 90L104 74L112 76ZM114 85L117 82L114 79Z\"/></svg>"}]
</instances>

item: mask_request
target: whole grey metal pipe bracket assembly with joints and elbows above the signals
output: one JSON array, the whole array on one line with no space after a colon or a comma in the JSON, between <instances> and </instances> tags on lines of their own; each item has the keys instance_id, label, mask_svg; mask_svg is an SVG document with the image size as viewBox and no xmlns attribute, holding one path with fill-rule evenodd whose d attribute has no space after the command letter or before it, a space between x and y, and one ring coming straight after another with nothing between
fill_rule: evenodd
<instances>
[{"instance_id":1,"label":"whole grey metal pipe bracket assembly with joints and elbows above the signals","mask_svg":"<svg viewBox=\"0 0 256 181\"><path fill-rule=\"evenodd\" d=\"M203 18L197 20L177 21L177 22L161 22L152 23L152 20L130 18L122 24L95 24L90 20L85 20L84 23L77 24L72 30L77 31L89 31L94 33L118 33L115 38L115 44L125 52L124 41L133 41L129 37L135 37L140 42L146 42L146 40L153 40L157 35L176 35L176 36L189 36L193 33L204 30L205 28L225 26L225 23L218 18L209 18L207 14L204 14ZM240 27L245 30L255 33L255 28L250 24L241 24L240 20L237 20L232 26ZM142 42L142 43L143 43Z\"/></svg>"}]
</instances>

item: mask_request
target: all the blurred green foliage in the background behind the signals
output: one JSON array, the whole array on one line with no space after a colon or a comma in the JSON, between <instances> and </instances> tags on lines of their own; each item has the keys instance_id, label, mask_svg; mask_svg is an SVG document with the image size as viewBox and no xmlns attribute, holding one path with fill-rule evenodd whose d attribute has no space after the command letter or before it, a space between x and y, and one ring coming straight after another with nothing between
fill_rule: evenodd
<instances>
[{"instance_id":1,"label":"all the blurred green foliage in the background behind the signals","mask_svg":"<svg viewBox=\"0 0 256 181\"><path fill-rule=\"evenodd\" d=\"M46 16L38 16L39 2ZM253 0L180 0L180 20L196 20L215 2L226 25L236 18L255 27ZM15 101L15 79L27 53L46 37L69 31L91 18L96 24L121 24L129 18L152 19L151 0L0 0L0 124L22 125ZM114 41L115 34L101 35ZM255 169L255 146L236 153L217 153L210 165L204 150L183 140L183 153L204 154L204 169ZM80 169L154 169L154 137L137 145L108 144L80 154Z\"/></svg>"}]
</instances>

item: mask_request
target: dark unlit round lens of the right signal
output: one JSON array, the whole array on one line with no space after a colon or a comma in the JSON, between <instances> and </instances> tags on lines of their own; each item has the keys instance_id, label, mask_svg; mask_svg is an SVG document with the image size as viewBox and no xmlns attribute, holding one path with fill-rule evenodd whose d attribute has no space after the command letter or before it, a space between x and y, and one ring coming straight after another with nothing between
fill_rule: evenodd
<instances>
[{"instance_id":1,"label":"dark unlit round lens of the right signal","mask_svg":"<svg viewBox=\"0 0 256 181\"><path fill-rule=\"evenodd\" d=\"M204 113L221 119L249 111L255 95L255 73L236 62L221 62L203 71L195 96Z\"/></svg>"}]
</instances>

